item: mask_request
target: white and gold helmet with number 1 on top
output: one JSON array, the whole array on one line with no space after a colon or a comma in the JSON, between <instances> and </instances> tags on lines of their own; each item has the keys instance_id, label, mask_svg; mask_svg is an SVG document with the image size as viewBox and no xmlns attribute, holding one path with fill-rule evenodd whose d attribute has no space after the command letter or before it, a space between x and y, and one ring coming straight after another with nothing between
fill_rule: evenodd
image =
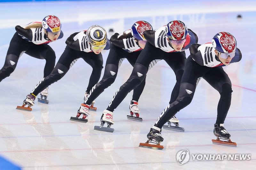
<instances>
[{"instance_id":1,"label":"white and gold helmet with number 1 on top","mask_svg":"<svg viewBox=\"0 0 256 170\"><path fill-rule=\"evenodd\" d=\"M103 46L107 43L107 32L99 26L93 25L86 32L87 39L93 46Z\"/></svg>"}]
</instances>

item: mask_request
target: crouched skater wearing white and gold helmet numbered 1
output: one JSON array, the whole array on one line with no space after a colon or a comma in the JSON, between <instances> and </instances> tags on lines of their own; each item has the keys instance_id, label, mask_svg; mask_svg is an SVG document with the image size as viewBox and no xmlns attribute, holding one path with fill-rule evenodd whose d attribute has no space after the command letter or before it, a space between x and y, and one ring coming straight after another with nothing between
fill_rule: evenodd
<instances>
[{"instance_id":1,"label":"crouched skater wearing white and gold helmet numbered 1","mask_svg":"<svg viewBox=\"0 0 256 170\"><path fill-rule=\"evenodd\" d=\"M107 33L104 28L99 25L91 26L87 31L76 32L66 40L66 48L52 73L44 77L23 102L23 106L17 109L32 110L30 107L34 105L36 96L52 83L60 80L72 67L79 58L83 58L92 67L92 74L89 80L87 90L99 81L102 70L102 54L103 49L110 48L110 41L107 39ZM28 104L28 108L25 105Z\"/></svg>"}]
</instances>

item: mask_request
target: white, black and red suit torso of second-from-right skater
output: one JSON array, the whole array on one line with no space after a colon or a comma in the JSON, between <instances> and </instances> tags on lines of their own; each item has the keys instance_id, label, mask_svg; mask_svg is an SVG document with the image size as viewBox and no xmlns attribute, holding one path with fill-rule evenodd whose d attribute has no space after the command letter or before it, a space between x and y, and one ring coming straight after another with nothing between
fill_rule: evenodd
<instances>
[{"instance_id":1,"label":"white, black and red suit torso of second-from-right skater","mask_svg":"<svg viewBox=\"0 0 256 170\"><path fill-rule=\"evenodd\" d=\"M144 31L144 37L152 46L160 48L164 52L167 52L167 53L177 52L172 48L171 44L168 42L164 29L165 29L165 26L162 26L156 31L153 31L153 30ZM190 29L188 29L186 42L182 47L181 51L185 51L191 46L191 44L197 43L197 41L198 41L197 35L194 32L192 32Z\"/></svg>"}]
</instances>

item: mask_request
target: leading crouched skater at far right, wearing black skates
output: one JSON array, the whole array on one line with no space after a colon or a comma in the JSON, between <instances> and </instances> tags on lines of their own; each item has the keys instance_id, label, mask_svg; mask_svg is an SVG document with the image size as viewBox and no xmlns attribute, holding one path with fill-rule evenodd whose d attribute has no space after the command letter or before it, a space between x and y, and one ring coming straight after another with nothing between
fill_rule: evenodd
<instances>
[{"instance_id":1,"label":"leading crouched skater at far right, wearing black skates","mask_svg":"<svg viewBox=\"0 0 256 170\"><path fill-rule=\"evenodd\" d=\"M148 141L140 143L140 146L161 146L159 143L164 140L161 136L162 126L169 118L192 101L198 79L201 77L220 93L217 119L213 131L217 140L212 140L212 142L214 144L236 146L236 143L230 141L230 134L223 125L231 103L232 88L231 81L222 68L222 66L238 62L242 58L240 50L236 48L236 39L228 32L220 32L213 37L212 43L192 44L189 51L190 55L186 61L181 79L179 96L164 109L155 125L151 127L147 135ZM224 139L224 141L220 139ZM150 142L157 145L148 144Z\"/></svg>"}]
</instances>

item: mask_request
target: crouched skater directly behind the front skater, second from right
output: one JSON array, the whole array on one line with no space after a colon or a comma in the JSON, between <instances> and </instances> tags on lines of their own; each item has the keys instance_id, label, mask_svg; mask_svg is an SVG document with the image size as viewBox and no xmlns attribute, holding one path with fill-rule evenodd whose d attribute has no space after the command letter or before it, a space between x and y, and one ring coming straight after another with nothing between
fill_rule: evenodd
<instances>
[{"instance_id":1,"label":"crouched skater directly behind the front skater, second from right","mask_svg":"<svg viewBox=\"0 0 256 170\"><path fill-rule=\"evenodd\" d=\"M159 60L165 60L176 75L176 84L172 90L170 103L175 101L178 96L180 80L186 61L185 50L191 44L197 43L196 34L187 29L183 22L175 20L169 22L166 26L160 27L157 31L144 31L143 35L147 43L136 60L130 78L116 91L108 108L103 111L100 119L101 130L104 123L107 123L108 127L114 124L114 109L131 90L140 85L145 79L148 70ZM97 126L95 127L97 130L99 129ZM111 128L111 131L113 132L114 129Z\"/></svg>"}]
</instances>

